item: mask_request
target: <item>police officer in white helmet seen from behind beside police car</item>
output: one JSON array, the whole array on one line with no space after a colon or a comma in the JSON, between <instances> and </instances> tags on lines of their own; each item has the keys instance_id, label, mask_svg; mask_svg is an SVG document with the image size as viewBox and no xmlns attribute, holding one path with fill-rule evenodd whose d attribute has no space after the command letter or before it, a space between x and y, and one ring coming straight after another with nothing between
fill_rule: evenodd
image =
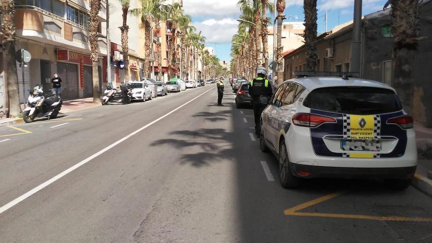
<instances>
[{"instance_id":1,"label":"police officer in white helmet seen from behind beside police car","mask_svg":"<svg viewBox=\"0 0 432 243\"><path fill-rule=\"evenodd\" d=\"M270 81L266 79L267 69L265 67L257 68L257 78L250 81L249 95L252 97L253 115L255 117L255 134L261 136L260 117L267 104L262 104L261 97L270 99L272 89ZM267 99L267 100L268 100Z\"/></svg>"}]
</instances>

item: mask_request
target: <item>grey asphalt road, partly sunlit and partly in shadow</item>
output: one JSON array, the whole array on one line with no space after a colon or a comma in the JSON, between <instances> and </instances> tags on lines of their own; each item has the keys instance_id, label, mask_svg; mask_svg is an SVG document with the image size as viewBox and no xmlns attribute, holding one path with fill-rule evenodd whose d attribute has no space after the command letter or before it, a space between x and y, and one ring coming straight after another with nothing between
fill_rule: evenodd
<instances>
[{"instance_id":1,"label":"grey asphalt road, partly sunlit and partly in shadow","mask_svg":"<svg viewBox=\"0 0 432 243\"><path fill-rule=\"evenodd\" d=\"M412 187L281 188L252 110L229 85L225 106L216 96L212 84L0 127L0 242L432 242L432 199Z\"/></svg>"}]
</instances>

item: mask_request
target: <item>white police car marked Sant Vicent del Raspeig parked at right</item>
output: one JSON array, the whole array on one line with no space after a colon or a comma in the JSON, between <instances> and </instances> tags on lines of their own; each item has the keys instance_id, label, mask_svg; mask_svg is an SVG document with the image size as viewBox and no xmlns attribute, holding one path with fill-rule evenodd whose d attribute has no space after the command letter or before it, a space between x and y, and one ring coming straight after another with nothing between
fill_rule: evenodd
<instances>
[{"instance_id":1,"label":"white police car marked Sant Vicent del Raspeig parked at right","mask_svg":"<svg viewBox=\"0 0 432 243\"><path fill-rule=\"evenodd\" d=\"M417 149L413 118L395 90L347 76L300 76L280 85L261 116L260 148L278 158L281 185L296 188L300 178L384 179L406 189Z\"/></svg>"}]
</instances>

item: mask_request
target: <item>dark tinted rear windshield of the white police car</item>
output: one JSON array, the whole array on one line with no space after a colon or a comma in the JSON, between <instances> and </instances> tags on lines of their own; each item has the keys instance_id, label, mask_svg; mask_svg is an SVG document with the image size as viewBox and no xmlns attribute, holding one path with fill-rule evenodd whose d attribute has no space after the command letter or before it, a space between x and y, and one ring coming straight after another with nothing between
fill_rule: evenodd
<instances>
[{"instance_id":1,"label":"dark tinted rear windshield of the white police car","mask_svg":"<svg viewBox=\"0 0 432 243\"><path fill-rule=\"evenodd\" d=\"M313 90L304 106L344 114L372 115L402 110L399 98L390 89L373 87L328 87Z\"/></svg>"}]
</instances>

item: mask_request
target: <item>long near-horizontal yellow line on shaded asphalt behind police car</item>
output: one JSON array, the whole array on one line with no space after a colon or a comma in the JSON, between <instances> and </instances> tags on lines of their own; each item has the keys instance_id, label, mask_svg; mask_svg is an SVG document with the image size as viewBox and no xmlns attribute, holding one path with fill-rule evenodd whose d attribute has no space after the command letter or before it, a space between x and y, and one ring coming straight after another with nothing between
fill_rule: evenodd
<instances>
[{"instance_id":1,"label":"long near-horizontal yellow line on shaded asphalt behind police car","mask_svg":"<svg viewBox=\"0 0 432 243\"><path fill-rule=\"evenodd\" d=\"M301 212L293 212L293 211L289 211L289 210L285 210L284 213L285 213L285 215L290 215L290 216L353 218L353 219L369 219L369 220L379 220L379 221L432 222L432 218L424 218L424 217L369 216L369 215L348 215L348 214L301 213Z\"/></svg>"}]
</instances>

